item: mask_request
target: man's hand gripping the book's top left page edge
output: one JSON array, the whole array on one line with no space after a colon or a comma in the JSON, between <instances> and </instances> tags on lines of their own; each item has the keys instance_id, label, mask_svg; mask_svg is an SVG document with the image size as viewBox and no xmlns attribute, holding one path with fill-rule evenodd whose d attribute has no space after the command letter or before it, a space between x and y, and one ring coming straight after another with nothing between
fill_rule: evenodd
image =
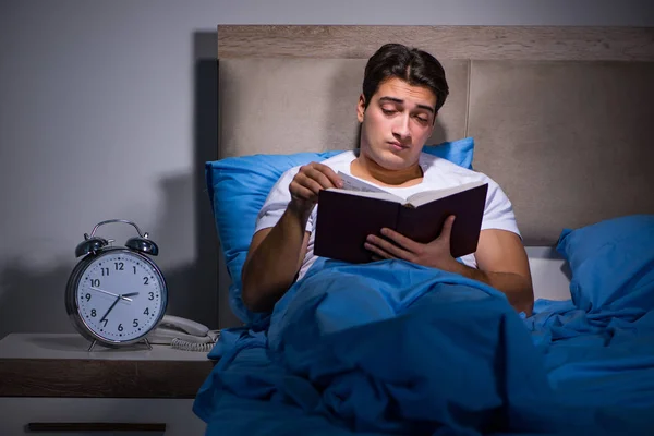
<instances>
[{"instance_id":1,"label":"man's hand gripping the book's top left page edge","mask_svg":"<svg viewBox=\"0 0 654 436\"><path fill-rule=\"evenodd\" d=\"M291 203L289 206L303 214L310 213L318 202L318 193L329 187L342 187L343 181L326 165L311 162L300 167L289 191Z\"/></svg>"}]
</instances>

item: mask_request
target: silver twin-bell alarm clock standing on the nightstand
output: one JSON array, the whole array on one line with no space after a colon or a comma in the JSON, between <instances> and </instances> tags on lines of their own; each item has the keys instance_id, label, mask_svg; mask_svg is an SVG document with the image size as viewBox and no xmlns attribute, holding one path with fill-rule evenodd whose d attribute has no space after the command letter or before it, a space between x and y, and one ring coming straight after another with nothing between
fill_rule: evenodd
<instances>
[{"instance_id":1,"label":"silver twin-bell alarm clock standing on the nightstand","mask_svg":"<svg viewBox=\"0 0 654 436\"><path fill-rule=\"evenodd\" d=\"M124 246L96 237L100 226L123 222L133 226L138 237ZM65 307L75 329L92 341L110 348L143 341L157 326L168 305L168 288L161 269L152 261L159 249L147 233L124 219L96 225L75 249L82 259L75 265L65 289Z\"/></svg>"}]
</instances>

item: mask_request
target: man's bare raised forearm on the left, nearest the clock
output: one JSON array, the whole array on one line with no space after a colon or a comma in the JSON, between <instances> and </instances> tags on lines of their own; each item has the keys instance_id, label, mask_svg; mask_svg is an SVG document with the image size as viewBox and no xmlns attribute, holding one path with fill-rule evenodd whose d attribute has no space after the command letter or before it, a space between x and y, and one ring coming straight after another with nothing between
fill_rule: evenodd
<instances>
[{"instance_id":1,"label":"man's bare raised forearm on the left, nearest the clock","mask_svg":"<svg viewBox=\"0 0 654 436\"><path fill-rule=\"evenodd\" d=\"M241 298L253 312L269 312L293 284L306 254L307 217L287 208L272 228L252 238L243 265Z\"/></svg>"}]
</instances>

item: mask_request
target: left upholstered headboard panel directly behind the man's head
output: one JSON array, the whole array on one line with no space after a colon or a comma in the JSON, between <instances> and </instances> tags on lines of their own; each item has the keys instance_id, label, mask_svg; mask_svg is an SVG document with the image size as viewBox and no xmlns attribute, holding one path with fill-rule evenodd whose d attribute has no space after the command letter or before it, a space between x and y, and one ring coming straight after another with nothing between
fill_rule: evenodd
<instances>
[{"instance_id":1,"label":"left upholstered headboard panel directly behind the man's head","mask_svg":"<svg viewBox=\"0 0 654 436\"><path fill-rule=\"evenodd\" d=\"M220 157L352 149L364 59L226 59L218 81ZM445 60L451 97L429 143L465 135L470 62Z\"/></svg>"}]
</instances>

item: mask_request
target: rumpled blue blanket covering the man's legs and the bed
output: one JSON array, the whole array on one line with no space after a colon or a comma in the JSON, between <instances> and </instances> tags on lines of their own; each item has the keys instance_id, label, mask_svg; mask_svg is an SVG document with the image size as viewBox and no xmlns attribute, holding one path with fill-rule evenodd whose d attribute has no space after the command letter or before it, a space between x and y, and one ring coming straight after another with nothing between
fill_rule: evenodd
<instances>
[{"instance_id":1,"label":"rumpled blue blanket covering the man's legs and the bed","mask_svg":"<svg viewBox=\"0 0 654 436\"><path fill-rule=\"evenodd\" d=\"M541 301L524 319L458 275L318 259L223 331L194 411L221 436L652 434L653 316Z\"/></svg>"}]
</instances>

